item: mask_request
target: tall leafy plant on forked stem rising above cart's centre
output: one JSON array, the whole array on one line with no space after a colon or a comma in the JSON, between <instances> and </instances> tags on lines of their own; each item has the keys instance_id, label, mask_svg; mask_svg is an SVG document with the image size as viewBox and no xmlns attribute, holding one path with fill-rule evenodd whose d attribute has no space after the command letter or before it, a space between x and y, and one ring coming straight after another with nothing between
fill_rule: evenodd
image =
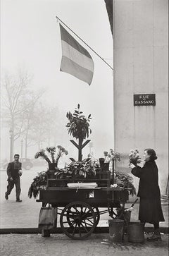
<instances>
[{"instance_id":1,"label":"tall leafy plant on forked stem rising above cart's centre","mask_svg":"<svg viewBox=\"0 0 169 256\"><path fill-rule=\"evenodd\" d=\"M77 108L75 108L74 113L67 112L66 117L68 118L69 122L67 123L66 127L68 127L68 133L73 135L79 142L77 143L74 140L70 140L70 142L75 145L78 149L78 161L82 161L82 148L90 142L90 140L86 140L83 143L83 140L89 137L89 133L92 133L92 130L89 128L89 121L92 119L91 114L88 117L85 117L83 112L80 111L80 104L77 104Z\"/></svg>"}]
</instances>

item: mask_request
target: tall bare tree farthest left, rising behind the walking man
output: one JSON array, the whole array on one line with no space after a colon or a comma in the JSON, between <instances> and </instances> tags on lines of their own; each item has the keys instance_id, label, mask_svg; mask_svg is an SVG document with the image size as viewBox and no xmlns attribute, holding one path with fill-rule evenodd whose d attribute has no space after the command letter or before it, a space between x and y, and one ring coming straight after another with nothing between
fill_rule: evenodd
<instances>
[{"instance_id":1,"label":"tall bare tree farthest left, rising behind the walking man","mask_svg":"<svg viewBox=\"0 0 169 256\"><path fill-rule=\"evenodd\" d=\"M21 134L26 133L27 113L32 111L40 95L30 91L28 85L32 77L27 72L19 71L18 75L4 75L2 118L11 129L11 156L13 156L14 142ZM29 119L29 118L28 118ZM28 120L27 120L28 121Z\"/></svg>"}]
</instances>

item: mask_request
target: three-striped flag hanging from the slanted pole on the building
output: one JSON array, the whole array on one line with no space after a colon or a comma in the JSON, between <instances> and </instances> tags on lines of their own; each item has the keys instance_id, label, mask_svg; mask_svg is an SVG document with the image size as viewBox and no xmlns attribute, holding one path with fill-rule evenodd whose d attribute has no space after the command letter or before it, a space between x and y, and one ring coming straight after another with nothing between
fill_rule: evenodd
<instances>
[{"instance_id":1,"label":"three-striped flag hanging from the slanted pole on the building","mask_svg":"<svg viewBox=\"0 0 169 256\"><path fill-rule=\"evenodd\" d=\"M89 52L72 37L60 24L62 59L60 71L74 75L76 78L92 83L94 62Z\"/></svg>"}]
</instances>

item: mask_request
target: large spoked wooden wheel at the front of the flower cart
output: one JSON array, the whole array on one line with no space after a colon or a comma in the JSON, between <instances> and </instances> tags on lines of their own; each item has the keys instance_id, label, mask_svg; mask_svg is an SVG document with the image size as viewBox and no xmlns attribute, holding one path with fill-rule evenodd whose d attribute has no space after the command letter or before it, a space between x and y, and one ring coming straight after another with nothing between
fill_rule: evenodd
<instances>
[{"instance_id":1,"label":"large spoked wooden wheel at the front of the flower cart","mask_svg":"<svg viewBox=\"0 0 169 256\"><path fill-rule=\"evenodd\" d=\"M70 202L61 212L60 224L63 233L75 240L91 235L96 227L96 215L85 202Z\"/></svg>"}]
</instances>

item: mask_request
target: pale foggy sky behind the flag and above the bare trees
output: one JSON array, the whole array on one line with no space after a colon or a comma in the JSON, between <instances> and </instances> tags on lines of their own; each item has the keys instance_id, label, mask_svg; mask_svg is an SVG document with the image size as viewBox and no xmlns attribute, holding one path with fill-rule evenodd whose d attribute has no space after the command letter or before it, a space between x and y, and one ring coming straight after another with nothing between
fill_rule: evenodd
<instances>
[{"instance_id":1,"label":"pale foggy sky behind the flag and above the bare trees","mask_svg":"<svg viewBox=\"0 0 169 256\"><path fill-rule=\"evenodd\" d=\"M95 157L101 157L104 150L113 147L113 72L70 31L92 55L94 78L89 86L60 72L61 35L56 16L113 66L113 39L104 0L1 0L1 77L6 71L15 74L18 68L25 69L33 75L33 90L46 89L44 104L57 105L63 114L73 112L79 103L84 115L92 114L89 139L94 143ZM66 125L65 116L64 121ZM1 125L1 159L9 157L8 130ZM69 142L73 138L65 126L63 134L63 146L75 154ZM14 151L18 153L20 140L15 143ZM33 158L36 150L30 148L28 157ZM84 154L87 152L89 147Z\"/></svg>"}]
</instances>

